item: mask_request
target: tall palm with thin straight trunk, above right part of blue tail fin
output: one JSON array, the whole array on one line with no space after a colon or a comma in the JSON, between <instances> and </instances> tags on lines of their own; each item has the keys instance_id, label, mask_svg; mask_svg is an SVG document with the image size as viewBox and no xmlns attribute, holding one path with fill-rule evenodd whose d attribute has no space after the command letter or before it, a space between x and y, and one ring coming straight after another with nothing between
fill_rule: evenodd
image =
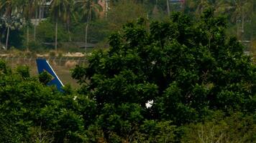
<instances>
[{"instance_id":1,"label":"tall palm with thin straight trunk, above right part of blue tail fin","mask_svg":"<svg viewBox=\"0 0 256 143\"><path fill-rule=\"evenodd\" d=\"M52 19L55 21L55 50L58 47L58 21L63 20L63 14L66 13L70 1L68 0L52 0L50 12Z\"/></svg>"}]
</instances>

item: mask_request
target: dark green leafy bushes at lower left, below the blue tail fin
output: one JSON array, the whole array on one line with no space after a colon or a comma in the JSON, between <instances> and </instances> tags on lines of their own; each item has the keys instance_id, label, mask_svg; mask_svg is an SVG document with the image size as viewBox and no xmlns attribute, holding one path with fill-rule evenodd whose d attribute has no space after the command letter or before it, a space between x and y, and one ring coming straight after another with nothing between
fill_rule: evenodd
<instances>
[{"instance_id":1,"label":"dark green leafy bushes at lower left, below the blue tail fin","mask_svg":"<svg viewBox=\"0 0 256 143\"><path fill-rule=\"evenodd\" d=\"M49 79L45 73L30 77L28 68L19 66L12 74L3 61L0 65L1 142L83 142L86 139L85 129L96 113L93 100L70 89L60 93L45 87Z\"/></svg>"}]
</instances>

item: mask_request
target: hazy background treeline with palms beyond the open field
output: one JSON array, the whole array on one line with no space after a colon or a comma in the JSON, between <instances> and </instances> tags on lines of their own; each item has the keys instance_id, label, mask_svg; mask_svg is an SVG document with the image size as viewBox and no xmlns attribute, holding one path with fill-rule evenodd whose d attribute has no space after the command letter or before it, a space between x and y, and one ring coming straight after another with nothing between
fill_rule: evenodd
<instances>
[{"instance_id":1,"label":"hazy background treeline with palms beyond the open field","mask_svg":"<svg viewBox=\"0 0 256 143\"><path fill-rule=\"evenodd\" d=\"M227 33L237 36L247 50L255 50L254 0L1 0L0 45L1 49L59 47L69 51L76 44L106 47L109 35L127 21L165 20L172 11L198 19L208 8L227 16Z\"/></svg>"}]
</instances>

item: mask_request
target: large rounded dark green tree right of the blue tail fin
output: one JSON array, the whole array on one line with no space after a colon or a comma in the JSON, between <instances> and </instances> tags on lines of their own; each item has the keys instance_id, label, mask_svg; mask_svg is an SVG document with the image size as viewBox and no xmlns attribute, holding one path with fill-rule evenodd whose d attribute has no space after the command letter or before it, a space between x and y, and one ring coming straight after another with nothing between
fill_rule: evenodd
<instances>
[{"instance_id":1,"label":"large rounded dark green tree right of the blue tail fin","mask_svg":"<svg viewBox=\"0 0 256 143\"><path fill-rule=\"evenodd\" d=\"M109 106L119 111L123 104L136 104L145 119L180 125L216 109L253 112L248 104L255 98L255 65L242 44L226 36L225 20L208 10L196 22L173 14L149 29L143 19L126 24L109 39L111 48L94 52L73 77L101 114Z\"/></svg>"}]
</instances>

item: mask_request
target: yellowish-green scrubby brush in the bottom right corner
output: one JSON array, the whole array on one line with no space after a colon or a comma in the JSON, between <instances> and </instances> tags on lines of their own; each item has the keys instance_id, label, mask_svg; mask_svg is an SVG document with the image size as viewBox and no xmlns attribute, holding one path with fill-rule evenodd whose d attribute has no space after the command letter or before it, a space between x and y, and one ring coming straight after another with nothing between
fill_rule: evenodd
<instances>
[{"instance_id":1,"label":"yellowish-green scrubby brush in the bottom right corner","mask_svg":"<svg viewBox=\"0 0 256 143\"><path fill-rule=\"evenodd\" d=\"M234 113L218 118L183 127L181 142L255 142L255 115Z\"/></svg>"}]
</instances>

